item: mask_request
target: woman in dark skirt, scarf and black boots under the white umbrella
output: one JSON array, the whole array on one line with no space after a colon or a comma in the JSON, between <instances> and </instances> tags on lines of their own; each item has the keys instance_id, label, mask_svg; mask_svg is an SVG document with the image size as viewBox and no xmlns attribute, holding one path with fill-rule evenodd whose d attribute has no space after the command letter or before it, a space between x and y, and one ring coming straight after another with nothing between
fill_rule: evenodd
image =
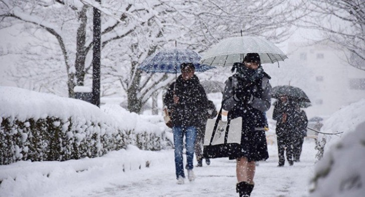
<instances>
[{"instance_id":1,"label":"woman in dark skirt, scarf and black boots under the white umbrella","mask_svg":"<svg viewBox=\"0 0 365 197\"><path fill-rule=\"evenodd\" d=\"M260 64L257 53L249 53L243 63L235 63L236 73L226 81L222 108L228 120L242 117L240 151L229 158L236 159L236 191L240 197L250 196L254 188L256 161L269 158L265 135L265 112L271 105L270 76Z\"/></svg>"}]
</instances>

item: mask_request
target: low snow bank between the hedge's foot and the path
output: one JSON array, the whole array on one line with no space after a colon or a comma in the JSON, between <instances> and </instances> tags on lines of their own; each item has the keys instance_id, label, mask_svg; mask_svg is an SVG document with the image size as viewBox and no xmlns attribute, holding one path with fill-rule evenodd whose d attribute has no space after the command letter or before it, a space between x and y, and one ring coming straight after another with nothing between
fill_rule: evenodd
<instances>
[{"instance_id":1,"label":"low snow bank between the hedge's foot and the path","mask_svg":"<svg viewBox=\"0 0 365 197\"><path fill-rule=\"evenodd\" d=\"M140 150L128 145L126 149L110 151L96 158L18 161L0 165L0 197L82 196L87 190L110 187L117 181L129 180L135 171L150 172L147 167L163 166L165 160L171 158L173 155L166 156L160 151ZM86 190L79 191L85 186ZM75 193L75 190L78 192Z\"/></svg>"}]
</instances>

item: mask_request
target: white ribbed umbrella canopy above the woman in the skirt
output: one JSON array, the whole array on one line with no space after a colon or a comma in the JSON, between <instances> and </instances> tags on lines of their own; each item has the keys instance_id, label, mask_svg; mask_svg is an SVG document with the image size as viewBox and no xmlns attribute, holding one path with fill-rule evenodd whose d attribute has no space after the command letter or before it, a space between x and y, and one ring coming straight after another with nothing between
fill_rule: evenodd
<instances>
[{"instance_id":1,"label":"white ribbed umbrella canopy above the woman in the skirt","mask_svg":"<svg viewBox=\"0 0 365 197\"><path fill-rule=\"evenodd\" d=\"M201 60L201 64L211 66L232 66L242 62L248 53L258 53L261 63L284 61L288 57L273 43L263 38L241 36L226 38L210 48Z\"/></svg>"}]
</instances>

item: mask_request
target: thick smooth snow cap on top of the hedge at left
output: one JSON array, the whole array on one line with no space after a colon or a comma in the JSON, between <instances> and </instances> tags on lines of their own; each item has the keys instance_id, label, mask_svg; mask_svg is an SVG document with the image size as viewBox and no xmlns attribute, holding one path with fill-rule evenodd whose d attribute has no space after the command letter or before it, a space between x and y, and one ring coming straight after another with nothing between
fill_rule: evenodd
<instances>
[{"instance_id":1,"label":"thick smooth snow cap on top of the hedge at left","mask_svg":"<svg viewBox=\"0 0 365 197\"><path fill-rule=\"evenodd\" d=\"M4 86L0 86L0 95L1 117L17 117L18 120L37 120L47 116L62 120L83 117L115 126L113 117L100 113L98 107L81 100Z\"/></svg>"}]
</instances>

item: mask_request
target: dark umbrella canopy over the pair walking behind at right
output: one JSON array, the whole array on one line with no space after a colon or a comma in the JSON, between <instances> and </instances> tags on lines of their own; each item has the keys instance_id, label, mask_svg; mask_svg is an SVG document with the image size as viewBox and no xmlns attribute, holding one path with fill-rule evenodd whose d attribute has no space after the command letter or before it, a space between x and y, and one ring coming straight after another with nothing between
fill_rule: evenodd
<instances>
[{"instance_id":1,"label":"dark umbrella canopy over the pair walking behind at right","mask_svg":"<svg viewBox=\"0 0 365 197\"><path fill-rule=\"evenodd\" d=\"M271 96L276 99L279 99L281 96L289 96L297 102L310 103L310 100L305 92L302 89L294 86L284 85L273 87L271 89Z\"/></svg>"}]
</instances>

